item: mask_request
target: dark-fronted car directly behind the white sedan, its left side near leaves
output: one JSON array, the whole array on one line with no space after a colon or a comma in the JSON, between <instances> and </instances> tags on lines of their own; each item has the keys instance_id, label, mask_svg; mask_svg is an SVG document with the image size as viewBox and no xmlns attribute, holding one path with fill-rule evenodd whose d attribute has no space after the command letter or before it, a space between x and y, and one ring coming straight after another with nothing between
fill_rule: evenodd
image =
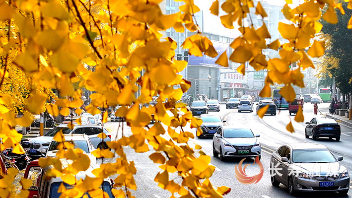
<instances>
[{"instance_id":1,"label":"dark-fronted car directly behind the white sedan, its left side near leaves","mask_svg":"<svg viewBox=\"0 0 352 198\"><path fill-rule=\"evenodd\" d=\"M197 137L214 136L214 133L220 130L221 126L223 126L223 123L226 122L225 120L223 121L220 116L212 115L201 115L201 119L203 120L201 125L203 133Z\"/></svg>"}]
</instances>

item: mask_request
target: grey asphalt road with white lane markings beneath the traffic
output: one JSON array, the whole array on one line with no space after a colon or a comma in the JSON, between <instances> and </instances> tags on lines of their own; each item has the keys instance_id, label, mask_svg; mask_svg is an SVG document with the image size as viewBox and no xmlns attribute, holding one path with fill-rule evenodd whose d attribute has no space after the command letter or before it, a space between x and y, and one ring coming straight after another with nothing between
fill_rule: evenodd
<instances>
[{"instance_id":1,"label":"grey asphalt road with white lane markings beneath the traffic","mask_svg":"<svg viewBox=\"0 0 352 198\"><path fill-rule=\"evenodd\" d=\"M328 112L328 106L330 103L318 104L318 107L322 114ZM255 134L260 134L259 137L262 144L262 159L261 163L264 168L264 175L262 179L256 184L245 185L235 177L235 165L240 159L230 159L225 162L220 161L219 158L212 156L212 139L198 139L195 138L191 141L202 146L202 150L211 156L211 164L216 167L213 176L211 177L211 183L214 186L228 186L232 190L226 195L227 198L290 198L288 195L287 188L280 185L279 188L273 187L270 182L270 154L276 150L280 145L285 143L296 143L296 142L317 142L326 145L333 154L337 156L343 156L344 160L341 164L350 169L352 172L352 128L341 125L342 135L339 142L335 140L329 140L328 138L318 138L317 141L313 141L311 138L307 139L304 136L305 124L296 123L294 121L294 115L289 116L287 110L281 110L276 116L265 116L260 119L256 112L252 113L238 113L237 109L225 109L225 105L221 105L220 112L210 112L213 115L219 115L226 120L226 125L245 126L250 127ZM313 117L313 105L310 103L304 104L304 122L309 122ZM323 115L319 115L323 116ZM285 127L292 121L295 129L294 133L288 132ZM152 124L150 124L152 126ZM105 127L113 134L118 133L118 136L122 135L122 126L119 128L118 123L108 122ZM190 132L195 130L186 129ZM131 131L127 126L124 126L124 135L131 135ZM151 148L151 147L150 147ZM153 181L155 175L160 171L157 164L153 164L148 156L152 151L146 153L135 153L130 147L125 147L125 152L130 160L134 160L136 168L138 170L135 179L138 186L137 191L133 192L133 195L138 198L166 198L170 197L171 194L165 190L157 187L157 184ZM259 173L258 165L253 165L254 159L249 158L244 161L245 164L250 164L246 168L248 176L253 176ZM175 179L175 182L181 182L176 174L170 174L169 179ZM350 184L352 186L352 183ZM299 195L298 197L352 197L352 190L350 190L348 196L340 196L337 193L331 194L305 194Z\"/></svg>"}]
</instances>

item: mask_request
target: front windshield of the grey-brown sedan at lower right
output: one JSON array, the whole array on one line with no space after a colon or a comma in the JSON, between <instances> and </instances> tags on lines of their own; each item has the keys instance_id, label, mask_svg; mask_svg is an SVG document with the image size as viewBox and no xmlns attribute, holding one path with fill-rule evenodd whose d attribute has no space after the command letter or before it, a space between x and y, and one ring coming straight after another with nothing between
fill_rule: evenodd
<instances>
[{"instance_id":1,"label":"front windshield of the grey-brown sedan at lower right","mask_svg":"<svg viewBox=\"0 0 352 198\"><path fill-rule=\"evenodd\" d=\"M329 163L336 162L336 159L328 149L298 149L292 151L292 162Z\"/></svg>"}]
</instances>

